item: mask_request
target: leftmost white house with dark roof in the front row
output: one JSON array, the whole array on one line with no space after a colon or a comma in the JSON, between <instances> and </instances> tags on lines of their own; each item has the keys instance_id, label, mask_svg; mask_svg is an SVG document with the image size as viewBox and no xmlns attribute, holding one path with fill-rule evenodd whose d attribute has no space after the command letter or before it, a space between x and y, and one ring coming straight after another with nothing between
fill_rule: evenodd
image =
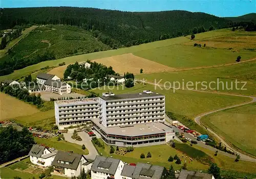
<instances>
[{"instance_id":1,"label":"leftmost white house with dark roof in the front row","mask_svg":"<svg viewBox=\"0 0 256 179\"><path fill-rule=\"evenodd\" d=\"M48 167L52 165L56 152L57 151L50 150L45 146L35 144L29 151L30 162L42 167Z\"/></svg>"}]
</instances>

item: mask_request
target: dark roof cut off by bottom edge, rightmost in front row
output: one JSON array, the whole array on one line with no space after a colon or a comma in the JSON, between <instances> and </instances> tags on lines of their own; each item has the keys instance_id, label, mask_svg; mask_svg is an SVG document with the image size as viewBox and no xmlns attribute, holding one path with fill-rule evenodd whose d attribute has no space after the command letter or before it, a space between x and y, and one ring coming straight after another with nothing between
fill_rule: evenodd
<instances>
[{"instance_id":1,"label":"dark roof cut off by bottom edge, rightmost in front row","mask_svg":"<svg viewBox=\"0 0 256 179\"><path fill-rule=\"evenodd\" d=\"M215 179L215 177L209 173L181 170L178 179Z\"/></svg>"}]
</instances>

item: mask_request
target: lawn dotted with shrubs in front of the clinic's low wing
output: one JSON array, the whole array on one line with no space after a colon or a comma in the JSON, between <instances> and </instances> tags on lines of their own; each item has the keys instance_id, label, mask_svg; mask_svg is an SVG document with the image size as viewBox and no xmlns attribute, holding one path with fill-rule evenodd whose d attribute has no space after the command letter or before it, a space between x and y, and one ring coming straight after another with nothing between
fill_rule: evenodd
<instances>
[{"instance_id":1,"label":"lawn dotted with shrubs in front of the clinic's low wing","mask_svg":"<svg viewBox=\"0 0 256 179\"><path fill-rule=\"evenodd\" d=\"M103 144L103 141L99 139L99 141ZM134 151L127 152L127 154L118 155L118 154L110 154L110 146L104 144L104 149L100 148L96 145L97 150L99 151L99 154L102 154L105 157L113 156L115 159L120 159L123 162L127 163L146 163L150 162L153 165L160 165L164 166L167 169L170 167L170 165L174 166L175 170L181 169L181 167L184 165L184 160L181 162L181 164L175 164L175 160L173 162L168 162L169 156L175 156L178 155L180 158L182 158L182 152L166 145L154 145L154 146L147 146L147 147L137 147L134 148ZM116 147L114 147L116 149ZM125 148L119 147L119 150L123 150ZM140 155L143 153L145 156L147 155L147 152L150 151L152 158L145 158L140 159ZM187 168L190 170L198 170L198 169L207 169L209 166L204 165L196 160L193 160L192 163L188 163L187 161Z\"/></svg>"}]
</instances>

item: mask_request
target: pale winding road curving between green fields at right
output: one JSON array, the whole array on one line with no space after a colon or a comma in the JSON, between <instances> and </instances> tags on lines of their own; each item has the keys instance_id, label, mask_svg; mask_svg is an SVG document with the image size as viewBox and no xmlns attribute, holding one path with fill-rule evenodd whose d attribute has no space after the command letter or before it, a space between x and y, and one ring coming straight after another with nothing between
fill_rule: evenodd
<instances>
[{"instance_id":1,"label":"pale winding road curving between green fields at right","mask_svg":"<svg viewBox=\"0 0 256 179\"><path fill-rule=\"evenodd\" d=\"M151 85L156 85L156 86L159 86L159 87L163 87L164 85L162 84L155 84L155 83L152 83L152 82L147 82L147 81L142 81L142 80L136 80L137 82L142 82L142 83L147 83L147 84L151 84ZM189 90L189 89L183 89L183 90ZM225 92L216 92L216 91L203 91L203 90L189 90L189 91L196 91L196 92L205 92L205 93L215 93L215 94L224 94L224 95L231 95L231 96L241 96L241 97L249 97L251 98L250 101L247 101L247 102L244 102L244 103L241 103L241 104L237 104L237 105L231 105L231 106L226 106L226 107L223 107L223 108L219 108L219 109L216 109L216 110L212 110L212 111L208 111L208 112L204 112L202 114L199 114L198 116L196 116L194 118L195 122L198 123L200 126L203 126L203 124L201 123L201 118L206 116L206 115L209 115L209 114L212 114L212 113L216 113L216 112L219 112L219 111L223 111L223 110L226 110L226 109L231 109L231 108L236 108L236 107L240 107L240 106L244 106L244 105L248 105L248 104L251 104L251 103L256 103L256 97L255 96L247 96L247 95L239 95L239 94L232 94L232 93L225 93ZM238 151L236 149L234 149L232 146L230 146L221 136L219 136L217 133L215 133L214 131L212 131L211 129L209 129L207 127L207 131L209 131L212 135L214 135L216 138L218 138L222 144L224 146L227 147L227 149L231 150L231 151L234 151L236 153L238 153ZM252 158L250 156L247 156L245 154L241 154L239 153L240 155L240 160L243 160L243 161L248 161L248 162L255 162L256 163L256 159L255 158Z\"/></svg>"}]
</instances>

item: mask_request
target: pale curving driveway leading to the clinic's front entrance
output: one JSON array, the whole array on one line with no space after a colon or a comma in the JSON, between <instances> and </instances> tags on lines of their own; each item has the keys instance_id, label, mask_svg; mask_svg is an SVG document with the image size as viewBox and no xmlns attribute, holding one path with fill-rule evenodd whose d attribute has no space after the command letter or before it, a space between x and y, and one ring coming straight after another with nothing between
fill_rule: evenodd
<instances>
[{"instance_id":1,"label":"pale curving driveway leading to the clinic's front entrance","mask_svg":"<svg viewBox=\"0 0 256 179\"><path fill-rule=\"evenodd\" d=\"M89 150L89 154L86 155L87 159L94 160L96 156L98 156L98 152L92 144L92 138L86 132L78 132L78 135L82 138L82 141L77 141L71 138L73 135L74 129L70 129L68 133L64 133L65 140L68 142L76 143L78 145L84 144L86 148Z\"/></svg>"}]
</instances>

